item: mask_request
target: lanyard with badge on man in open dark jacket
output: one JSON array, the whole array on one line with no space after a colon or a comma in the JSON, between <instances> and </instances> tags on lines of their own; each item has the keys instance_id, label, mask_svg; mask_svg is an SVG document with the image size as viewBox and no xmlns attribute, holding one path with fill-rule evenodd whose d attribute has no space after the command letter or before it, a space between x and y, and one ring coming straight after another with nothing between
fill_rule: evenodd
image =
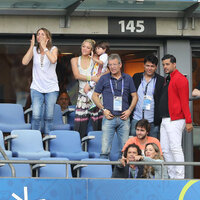
<instances>
[{"instance_id":1,"label":"lanyard with badge on man in open dark jacket","mask_svg":"<svg viewBox=\"0 0 200 200\"><path fill-rule=\"evenodd\" d=\"M153 82L153 90L152 90L152 95L147 95L147 89L149 86L149 83L152 81L152 79L154 79ZM143 93L144 93L144 100L143 100L143 106L142 106L142 118L144 118L144 111L145 110L151 110L151 102L153 101L153 94L154 94L154 90L155 90L155 85L156 85L156 78L152 78L145 86L144 89L144 77L142 80L142 89L143 89Z\"/></svg>"}]
</instances>

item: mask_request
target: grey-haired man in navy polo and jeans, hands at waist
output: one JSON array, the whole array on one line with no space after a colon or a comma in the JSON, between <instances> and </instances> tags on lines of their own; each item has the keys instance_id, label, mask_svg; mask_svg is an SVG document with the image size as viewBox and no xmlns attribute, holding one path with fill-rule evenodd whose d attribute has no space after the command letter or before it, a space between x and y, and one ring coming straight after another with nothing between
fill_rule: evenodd
<instances>
[{"instance_id":1,"label":"grey-haired man in navy polo and jeans, hands at waist","mask_svg":"<svg viewBox=\"0 0 200 200\"><path fill-rule=\"evenodd\" d=\"M131 76L121 72L122 62L118 54L111 54L108 57L108 67L110 73L99 79L93 94L94 103L104 114L101 158L108 158L115 132L118 134L121 152L129 137L129 116L137 103L135 85ZM100 94L103 95L103 105L99 98Z\"/></svg>"}]
</instances>

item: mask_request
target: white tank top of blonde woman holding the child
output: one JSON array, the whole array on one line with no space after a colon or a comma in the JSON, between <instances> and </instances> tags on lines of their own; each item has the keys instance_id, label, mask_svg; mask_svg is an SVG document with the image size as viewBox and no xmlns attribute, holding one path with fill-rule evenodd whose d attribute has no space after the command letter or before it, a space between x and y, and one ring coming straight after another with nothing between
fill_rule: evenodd
<instances>
[{"instance_id":1,"label":"white tank top of blonde woman holding the child","mask_svg":"<svg viewBox=\"0 0 200 200\"><path fill-rule=\"evenodd\" d=\"M78 57L78 70L80 74L84 76L91 76L93 66L94 62L92 59L90 59L90 66L87 69L83 69L81 67L81 56ZM84 92L84 87L87 81L78 80L78 82L79 82L79 93L81 93L82 95L86 95L86 93Z\"/></svg>"}]
</instances>

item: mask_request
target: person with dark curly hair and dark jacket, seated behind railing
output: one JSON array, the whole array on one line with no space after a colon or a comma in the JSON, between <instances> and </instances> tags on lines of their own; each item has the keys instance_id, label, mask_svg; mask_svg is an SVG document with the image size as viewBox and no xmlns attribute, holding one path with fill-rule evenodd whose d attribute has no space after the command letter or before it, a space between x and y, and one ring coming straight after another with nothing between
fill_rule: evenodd
<instances>
[{"instance_id":1,"label":"person with dark curly hair and dark jacket, seated behind railing","mask_svg":"<svg viewBox=\"0 0 200 200\"><path fill-rule=\"evenodd\" d=\"M128 165L129 162L135 161L135 156L141 156L142 152L138 145L130 144L124 151L124 156L120 159L120 165L116 165L112 178L141 178L143 166Z\"/></svg>"}]
</instances>

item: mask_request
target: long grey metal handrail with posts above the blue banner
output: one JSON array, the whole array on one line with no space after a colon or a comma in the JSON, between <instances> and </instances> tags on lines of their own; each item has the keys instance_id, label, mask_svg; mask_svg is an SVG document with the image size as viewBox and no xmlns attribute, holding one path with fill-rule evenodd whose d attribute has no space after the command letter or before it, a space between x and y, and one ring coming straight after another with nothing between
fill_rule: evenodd
<instances>
[{"instance_id":1,"label":"long grey metal handrail with posts above the blue banner","mask_svg":"<svg viewBox=\"0 0 200 200\"><path fill-rule=\"evenodd\" d=\"M85 164L85 165L119 165L119 161L66 161L66 160L0 160L3 164L65 164L66 165L66 178L68 178L68 165L69 164ZM160 165L161 177L163 177L164 166L166 165L184 165L184 166L200 166L200 162L130 162L129 165Z\"/></svg>"}]
</instances>

